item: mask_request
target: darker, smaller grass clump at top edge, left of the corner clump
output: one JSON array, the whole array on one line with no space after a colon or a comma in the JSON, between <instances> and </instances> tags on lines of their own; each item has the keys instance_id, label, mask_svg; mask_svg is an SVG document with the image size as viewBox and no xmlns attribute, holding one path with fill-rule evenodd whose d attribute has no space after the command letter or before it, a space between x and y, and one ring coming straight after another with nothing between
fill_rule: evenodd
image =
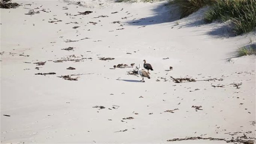
<instances>
[{"instance_id":1,"label":"darker, smaller grass clump at top edge, left of the corner clump","mask_svg":"<svg viewBox=\"0 0 256 144\"><path fill-rule=\"evenodd\" d=\"M177 4L180 7L181 16L184 18L193 12L196 12L204 6L214 3L214 0L168 0L169 4Z\"/></svg>"}]
</instances>

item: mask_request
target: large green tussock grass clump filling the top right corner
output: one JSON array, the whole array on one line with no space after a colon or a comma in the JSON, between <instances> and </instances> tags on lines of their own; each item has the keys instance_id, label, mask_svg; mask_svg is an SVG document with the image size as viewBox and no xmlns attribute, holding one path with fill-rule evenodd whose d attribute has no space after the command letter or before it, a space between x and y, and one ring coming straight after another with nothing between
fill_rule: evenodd
<instances>
[{"instance_id":1,"label":"large green tussock grass clump filling the top right corner","mask_svg":"<svg viewBox=\"0 0 256 144\"><path fill-rule=\"evenodd\" d=\"M256 27L256 0L214 0L204 20L231 20L236 34L248 33Z\"/></svg>"}]
</instances>

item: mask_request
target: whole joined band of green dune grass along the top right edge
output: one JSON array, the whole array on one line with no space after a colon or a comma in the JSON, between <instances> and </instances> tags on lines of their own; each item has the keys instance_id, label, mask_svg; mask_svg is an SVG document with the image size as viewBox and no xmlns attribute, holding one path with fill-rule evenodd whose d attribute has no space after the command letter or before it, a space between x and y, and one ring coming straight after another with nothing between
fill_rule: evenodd
<instances>
[{"instance_id":1,"label":"whole joined band of green dune grass along the top right edge","mask_svg":"<svg viewBox=\"0 0 256 144\"><path fill-rule=\"evenodd\" d=\"M232 30L237 34L248 33L256 27L256 0L168 0L178 4L184 18L204 6L211 8L205 13L204 21L231 21Z\"/></svg>"}]
</instances>

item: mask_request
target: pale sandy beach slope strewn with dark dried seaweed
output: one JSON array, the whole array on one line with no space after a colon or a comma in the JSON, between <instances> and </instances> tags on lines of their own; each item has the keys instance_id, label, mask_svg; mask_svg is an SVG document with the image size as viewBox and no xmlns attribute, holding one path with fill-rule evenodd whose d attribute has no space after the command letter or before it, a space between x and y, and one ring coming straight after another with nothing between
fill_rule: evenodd
<instances>
[{"instance_id":1,"label":"pale sandy beach slope strewn with dark dried seaweed","mask_svg":"<svg viewBox=\"0 0 256 144\"><path fill-rule=\"evenodd\" d=\"M175 7L168 9L164 1L86 1L87 7L63 1L18 2L23 6L1 9L1 143L225 143L167 140L231 140L243 134L255 138L255 56L232 58L250 37L255 42L255 33L220 37L228 34L225 26L203 24L205 9L178 20ZM24 15L29 11L25 7L47 12ZM73 16L86 10L93 13ZM108 17L94 18L100 15ZM80 40L86 37L90 39ZM61 50L68 47L74 51ZM53 62L69 55L92 59ZM121 63L142 64L143 59L154 69L145 83L127 74L134 68L110 69ZM165 71L170 66L173 70ZM49 72L57 74L35 75ZM57 77L68 74L84 75L77 81ZM174 83L170 76L223 80ZM232 83L242 85L237 89ZM213 87L217 85L224 87ZM93 108L96 105L106 108ZM193 105L202 110L195 111ZM164 112L175 108L179 110ZM123 120L126 117L134 119Z\"/></svg>"}]
</instances>

